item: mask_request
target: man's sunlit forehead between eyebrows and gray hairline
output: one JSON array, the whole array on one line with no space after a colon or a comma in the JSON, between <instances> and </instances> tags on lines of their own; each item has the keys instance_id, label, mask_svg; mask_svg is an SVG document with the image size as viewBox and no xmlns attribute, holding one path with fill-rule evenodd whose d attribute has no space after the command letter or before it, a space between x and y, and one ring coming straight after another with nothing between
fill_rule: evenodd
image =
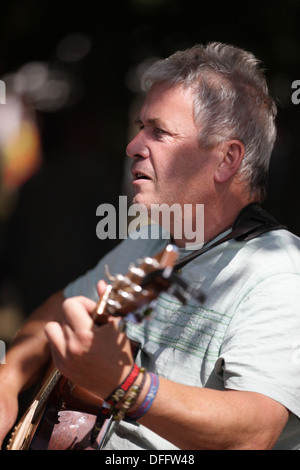
<instances>
[{"instance_id":1,"label":"man's sunlit forehead between eyebrows and gray hairline","mask_svg":"<svg viewBox=\"0 0 300 470\"><path fill-rule=\"evenodd\" d=\"M146 123L163 121L181 126L183 123L194 125L194 100L192 91L181 85L153 85L148 92L140 113Z\"/></svg>"}]
</instances>

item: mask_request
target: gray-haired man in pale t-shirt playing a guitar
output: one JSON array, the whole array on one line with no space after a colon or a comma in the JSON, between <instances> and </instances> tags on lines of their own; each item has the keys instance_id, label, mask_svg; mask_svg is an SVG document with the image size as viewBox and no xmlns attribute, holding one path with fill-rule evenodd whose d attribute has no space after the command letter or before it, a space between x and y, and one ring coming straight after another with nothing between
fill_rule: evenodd
<instances>
[{"instance_id":1,"label":"gray-haired man in pale t-shirt playing a guitar","mask_svg":"<svg viewBox=\"0 0 300 470\"><path fill-rule=\"evenodd\" d=\"M299 448L299 239L273 227L213 246L234 235L238 215L265 197L276 109L259 63L232 46L195 46L154 64L144 87L139 132L127 147L134 202L148 210L204 204L204 246L211 249L183 264L181 275L206 299L182 305L163 293L153 318L127 324L146 371L139 370L139 395L128 401L106 448ZM174 234L173 226L180 259L188 260L191 240L184 230ZM111 394L132 377L134 359L118 319L93 326L90 313L105 289L98 280L105 264L125 274L129 262L165 245L129 237L33 314L1 370L3 434L16 416L18 393L48 359L49 343L65 376L120 413L133 387L119 402Z\"/></svg>"}]
</instances>

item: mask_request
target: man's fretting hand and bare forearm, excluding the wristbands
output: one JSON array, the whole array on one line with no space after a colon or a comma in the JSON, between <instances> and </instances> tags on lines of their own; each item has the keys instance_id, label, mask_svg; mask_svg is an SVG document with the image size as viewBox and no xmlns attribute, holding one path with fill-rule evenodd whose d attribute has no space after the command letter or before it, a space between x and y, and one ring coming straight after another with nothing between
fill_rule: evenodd
<instances>
[{"instance_id":1,"label":"man's fretting hand and bare forearm, excluding the wristbands","mask_svg":"<svg viewBox=\"0 0 300 470\"><path fill-rule=\"evenodd\" d=\"M46 326L54 360L63 375L106 397L131 368L129 340L113 319L94 327L90 302L69 299L64 306L64 323ZM285 407L258 393L200 389L161 378L140 422L182 449L268 449L287 419Z\"/></svg>"}]
</instances>

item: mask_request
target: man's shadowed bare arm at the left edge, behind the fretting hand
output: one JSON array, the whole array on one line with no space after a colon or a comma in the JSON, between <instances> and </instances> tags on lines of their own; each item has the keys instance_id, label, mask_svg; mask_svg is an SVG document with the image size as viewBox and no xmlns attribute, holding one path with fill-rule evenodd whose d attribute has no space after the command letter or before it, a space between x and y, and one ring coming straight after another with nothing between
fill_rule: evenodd
<instances>
[{"instance_id":1,"label":"man's shadowed bare arm at the left edge, behind the fretting hand","mask_svg":"<svg viewBox=\"0 0 300 470\"><path fill-rule=\"evenodd\" d=\"M6 364L0 365L0 445L16 420L18 395L34 383L50 359L44 326L59 320L63 299L59 291L32 313L12 340Z\"/></svg>"}]
</instances>

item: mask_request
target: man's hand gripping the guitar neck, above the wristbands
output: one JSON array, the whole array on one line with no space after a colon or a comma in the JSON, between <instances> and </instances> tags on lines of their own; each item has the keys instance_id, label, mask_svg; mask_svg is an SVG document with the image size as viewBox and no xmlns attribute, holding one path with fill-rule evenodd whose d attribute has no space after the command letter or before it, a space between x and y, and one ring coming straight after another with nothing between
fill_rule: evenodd
<instances>
[{"instance_id":1,"label":"man's hand gripping the guitar neck, above the wristbands","mask_svg":"<svg viewBox=\"0 0 300 470\"><path fill-rule=\"evenodd\" d=\"M100 294L105 283L99 284ZM62 323L45 327L52 357L61 371L76 385L106 398L125 379L133 364L131 345L118 330L119 318L95 325L91 314L96 303L86 297L64 301Z\"/></svg>"}]
</instances>

